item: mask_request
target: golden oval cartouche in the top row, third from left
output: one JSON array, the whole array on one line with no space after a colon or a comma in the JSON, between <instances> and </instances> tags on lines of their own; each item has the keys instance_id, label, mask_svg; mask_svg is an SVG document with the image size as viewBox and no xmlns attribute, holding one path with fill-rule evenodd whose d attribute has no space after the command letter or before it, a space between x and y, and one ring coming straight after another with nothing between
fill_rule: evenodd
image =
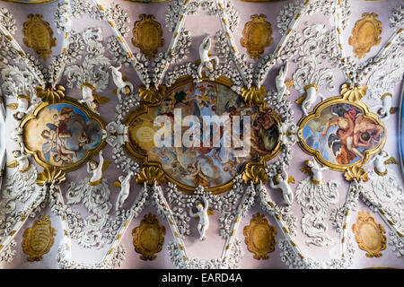
<instances>
[{"instance_id":1,"label":"golden oval cartouche in the top row, third from left","mask_svg":"<svg viewBox=\"0 0 404 287\"><path fill-rule=\"evenodd\" d=\"M274 42L272 36L272 27L270 22L266 22L267 16L264 14L251 15L251 21L246 22L242 30L242 47L247 48L247 54L256 60L264 54L264 49L271 46Z\"/></svg>"}]
</instances>

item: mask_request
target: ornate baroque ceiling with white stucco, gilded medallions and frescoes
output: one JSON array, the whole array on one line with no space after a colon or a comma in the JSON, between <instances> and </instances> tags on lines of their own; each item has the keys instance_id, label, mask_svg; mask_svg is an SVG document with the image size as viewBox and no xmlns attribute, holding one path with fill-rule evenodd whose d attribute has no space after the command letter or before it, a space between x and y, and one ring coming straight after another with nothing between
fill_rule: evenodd
<instances>
[{"instance_id":1,"label":"ornate baroque ceiling with white stucco, gilded medallions and frescoes","mask_svg":"<svg viewBox=\"0 0 404 287\"><path fill-rule=\"evenodd\" d=\"M400 0L35 2L0 2L4 268L403 267ZM197 90L270 115L276 147L145 164L156 114L132 111Z\"/></svg>"}]
</instances>

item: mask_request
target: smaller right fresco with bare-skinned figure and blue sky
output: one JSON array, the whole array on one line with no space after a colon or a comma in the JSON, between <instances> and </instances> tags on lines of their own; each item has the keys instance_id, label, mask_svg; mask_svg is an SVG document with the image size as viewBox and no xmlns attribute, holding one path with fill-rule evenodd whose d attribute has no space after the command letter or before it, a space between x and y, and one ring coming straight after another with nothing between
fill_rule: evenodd
<instances>
[{"instance_id":1,"label":"smaller right fresco with bare-skinned figure and blue sky","mask_svg":"<svg viewBox=\"0 0 404 287\"><path fill-rule=\"evenodd\" d=\"M348 102L321 104L300 126L303 149L320 155L323 164L336 169L363 165L385 141L377 116Z\"/></svg>"}]
</instances>

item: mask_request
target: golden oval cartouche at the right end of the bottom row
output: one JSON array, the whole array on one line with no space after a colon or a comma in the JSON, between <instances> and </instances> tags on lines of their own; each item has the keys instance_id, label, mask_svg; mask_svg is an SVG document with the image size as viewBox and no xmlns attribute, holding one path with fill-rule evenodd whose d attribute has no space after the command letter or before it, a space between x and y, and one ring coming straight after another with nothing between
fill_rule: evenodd
<instances>
[{"instance_id":1,"label":"golden oval cartouche at the right end of the bottom row","mask_svg":"<svg viewBox=\"0 0 404 287\"><path fill-rule=\"evenodd\" d=\"M386 248L387 238L382 224L374 221L370 213L363 211L358 213L357 221L352 225L352 231L356 233L356 242L362 250L366 251L366 257L382 257L382 250Z\"/></svg>"}]
</instances>

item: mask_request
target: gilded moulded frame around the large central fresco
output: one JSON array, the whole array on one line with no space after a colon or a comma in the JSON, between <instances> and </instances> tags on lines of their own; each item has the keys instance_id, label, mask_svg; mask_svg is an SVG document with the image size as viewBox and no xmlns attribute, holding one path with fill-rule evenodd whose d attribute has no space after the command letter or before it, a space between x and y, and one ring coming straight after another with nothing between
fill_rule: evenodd
<instances>
[{"instance_id":1,"label":"gilded moulded frame around the large central fresco","mask_svg":"<svg viewBox=\"0 0 404 287\"><path fill-rule=\"evenodd\" d=\"M125 119L123 120L123 124L126 126L130 126L131 123L133 122L133 120L136 117L139 117L140 115L146 114L150 108L154 108L154 107L160 107L162 105L162 100L164 100L165 96L167 94L170 94L171 91L174 91L175 89L177 89L178 87L180 87L181 85L184 85L186 83L191 83L193 82L194 79L191 76L181 76L180 78L178 78L175 83L173 83L169 89L166 91L166 93L164 94L164 96L162 96L162 99L160 99L158 102L152 104L152 103L146 103L145 101L141 101L140 105L138 108L132 110L127 117L125 117ZM225 86L227 86L228 88L231 88L233 86L233 82L230 79L224 78L223 76L220 76L219 78L215 79L215 81L210 80L207 77L203 77L202 78L202 82L213 82L213 83L219 83L219 84L223 84ZM239 95L240 96L240 95ZM257 109L259 109L259 107L255 107ZM268 108L267 108L268 109ZM274 117L273 117L277 123L277 126L280 126L280 117L277 115L276 111L274 111ZM279 130L278 130L279 131ZM187 186L183 183L181 183L180 181L171 178L170 175L162 169L162 164L160 162L157 161L148 161L148 156L141 154L139 152L136 152L136 149L134 148L134 146L130 143L130 141L128 141L127 143L125 143L125 145L123 146L125 152L127 152L127 154L129 154L133 159L135 159L136 161L138 161L140 163L141 168L143 167L147 167L147 166L155 166L158 169L161 169L162 172L164 172L165 177L171 181L173 184L177 185L178 190L184 194L188 194L191 195L193 194L195 187L190 187ZM238 175L244 173L244 170L246 170L246 168L250 165L267 165L267 161L270 161L271 159L275 158L277 156L277 154L279 152L281 152L282 150L282 145L280 143L280 141L277 142L277 146L274 148L274 150L272 152L269 152L268 154L264 154L261 155L259 154L258 159L256 161L245 161L242 164L242 170L238 173ZM206 191L210 191L212 192L213 195L219 195L222 194L226 191L229 191L232 187L233 187L233 178L227 182L225 182L224 184L217 186L217 187L207 187L205 190Z\"/></svg>"}]
</instances>

